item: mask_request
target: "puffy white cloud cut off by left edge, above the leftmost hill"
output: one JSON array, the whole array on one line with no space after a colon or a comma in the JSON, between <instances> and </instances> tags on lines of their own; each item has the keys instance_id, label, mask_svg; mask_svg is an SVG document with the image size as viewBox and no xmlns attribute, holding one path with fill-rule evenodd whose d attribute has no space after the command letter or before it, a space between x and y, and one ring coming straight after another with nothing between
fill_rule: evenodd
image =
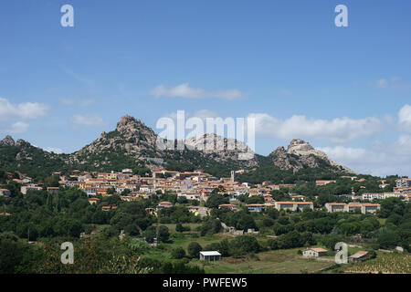
<instances>
[{"instance_id":1,"label":"puffy white cloud cut off by left edge, above the leftmost hill","mask_svg":"<svg viewBox=\"0 0 411 292\"><path fill-rule=\"evenodd\" d=\"M0 120L5 121L13 117L23 119L37 119L45 116L49 107L37 102L13 104L7 99L0 98Z\"/></svg>"}]
</instances>

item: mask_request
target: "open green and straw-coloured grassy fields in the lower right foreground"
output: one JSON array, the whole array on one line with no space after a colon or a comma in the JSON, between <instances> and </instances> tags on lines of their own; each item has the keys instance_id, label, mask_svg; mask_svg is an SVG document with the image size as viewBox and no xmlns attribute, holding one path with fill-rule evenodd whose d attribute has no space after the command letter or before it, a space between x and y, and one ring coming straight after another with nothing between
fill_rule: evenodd
<instances>
[{"instance_id":1,"label":"open green and straw-coloured grassy fields in the lower right foreground","mask_svg":"<svg viewBox=\"0 0 411 292\"><path fill-rule=\"evenodd\" d=\"M195 230L200 224L184 224L191 228L184 233L175 232L175 224L162 225L167 226L170 231L170 243L162 244L148 254L159 260L172 259L171 251L176 246L181 246L186 251L191 242L197 242L205 247L224 238L233 238L232 235L222 233L200 236ZM221 261L216 262L192 259L190 265L204 267L206 274L411 273L411 255L377 252L377 257L373 260L335 266L332 255L321 256L319 259L305 259L298 255L300 249L303 248L267 251L241 257L223 257ZM364 249L366 246L349 247L349 255Z\"/></svg>"}]
</instances>

